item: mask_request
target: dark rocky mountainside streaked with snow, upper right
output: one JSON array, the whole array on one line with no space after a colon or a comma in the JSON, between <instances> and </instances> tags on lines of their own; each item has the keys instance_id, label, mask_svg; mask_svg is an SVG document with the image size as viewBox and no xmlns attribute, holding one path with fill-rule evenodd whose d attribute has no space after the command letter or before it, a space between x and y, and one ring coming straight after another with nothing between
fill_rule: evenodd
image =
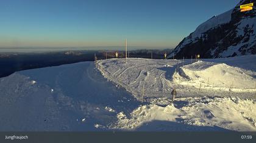
<instances>
[{"instance_id":1,"label":"dark rocky mountainside streaked with snow, upper right","mask_svg":"<svg viewBox=\"0 0 256 143\"><path fill-rule=\"evenodd\" d=\"M168 58L225 58L256 54L256 10L240 12L240 5L255 1L240 1L235 8L213 16L184 38Z\"/></svg>"}]
</instances>

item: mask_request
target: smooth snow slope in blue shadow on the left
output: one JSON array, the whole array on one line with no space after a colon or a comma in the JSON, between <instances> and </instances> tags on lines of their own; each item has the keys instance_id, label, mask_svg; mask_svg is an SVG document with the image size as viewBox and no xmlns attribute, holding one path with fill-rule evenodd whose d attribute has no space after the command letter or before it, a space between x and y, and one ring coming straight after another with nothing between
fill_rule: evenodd
<instances>
[{"instance_id":1,"label":"smooth snow slope in blue shadow on the left","mask_svg":"<svg viewBox=\"0 0 256 143\"><path fill-rule=\"evenodd\" d=\"M138 102L93 62L18 71L0 78L1 131L107 130ZM115 108L115 110L112 110Z\"/></svg>"}]
</instances>

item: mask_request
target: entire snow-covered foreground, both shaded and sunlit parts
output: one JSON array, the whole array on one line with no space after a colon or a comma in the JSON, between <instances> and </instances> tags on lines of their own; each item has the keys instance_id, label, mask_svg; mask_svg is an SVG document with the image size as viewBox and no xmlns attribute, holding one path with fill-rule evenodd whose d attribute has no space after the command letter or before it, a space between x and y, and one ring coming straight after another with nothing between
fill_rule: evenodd
<instances>
[{"instance_id":1,"label":"entire snow-covered foreground, both shaded and sunlit parts","mask_svg":"<svg viewBox=\"0 0 256 143\"><path fill-rule=\"evenodd\" d=\"M129 58L19 71L0 79L0 130L256 131L255 61Z\"/></svg>"}]
</instances>

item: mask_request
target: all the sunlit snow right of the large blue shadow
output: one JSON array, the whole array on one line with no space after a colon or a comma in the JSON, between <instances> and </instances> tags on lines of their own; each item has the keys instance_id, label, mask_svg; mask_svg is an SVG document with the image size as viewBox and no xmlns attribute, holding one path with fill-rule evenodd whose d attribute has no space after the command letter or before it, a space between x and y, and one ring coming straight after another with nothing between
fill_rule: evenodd
<instances>
[{"instance_id":1,"label":"all the sunlit snow right of the large blue shadow","mask_svg":"<svg viewBox=\"0 0 256 143\"><path fill-rule=\"evenodd\" d=\"M255 131L256 65L249 64L255 60L252 55L202 59L193 64L190 59L99 61L98 68L105 78L143 102L129 115L119 113L118 121L109 127L143 131ZM178 98L172 104L173 88Z\"/></svg>"}]
</instances>

